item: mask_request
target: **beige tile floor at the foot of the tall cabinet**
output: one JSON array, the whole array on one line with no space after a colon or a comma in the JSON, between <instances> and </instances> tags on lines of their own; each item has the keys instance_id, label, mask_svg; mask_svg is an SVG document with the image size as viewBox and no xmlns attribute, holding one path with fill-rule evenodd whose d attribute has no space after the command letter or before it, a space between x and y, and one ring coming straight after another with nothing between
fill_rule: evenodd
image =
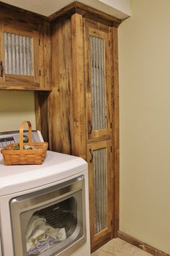
<instances>
[{"instance_id":1,"label":"beige tile floor at the foot of the tall cabinet","mask_svg":"<svg viewBox=\"0 0 170 256\"><path fill-rule=\"evenodd\" d=\"M151 256L151 254L116 238L97 249L91 256Z\"/></svg>"}]
</instances>

